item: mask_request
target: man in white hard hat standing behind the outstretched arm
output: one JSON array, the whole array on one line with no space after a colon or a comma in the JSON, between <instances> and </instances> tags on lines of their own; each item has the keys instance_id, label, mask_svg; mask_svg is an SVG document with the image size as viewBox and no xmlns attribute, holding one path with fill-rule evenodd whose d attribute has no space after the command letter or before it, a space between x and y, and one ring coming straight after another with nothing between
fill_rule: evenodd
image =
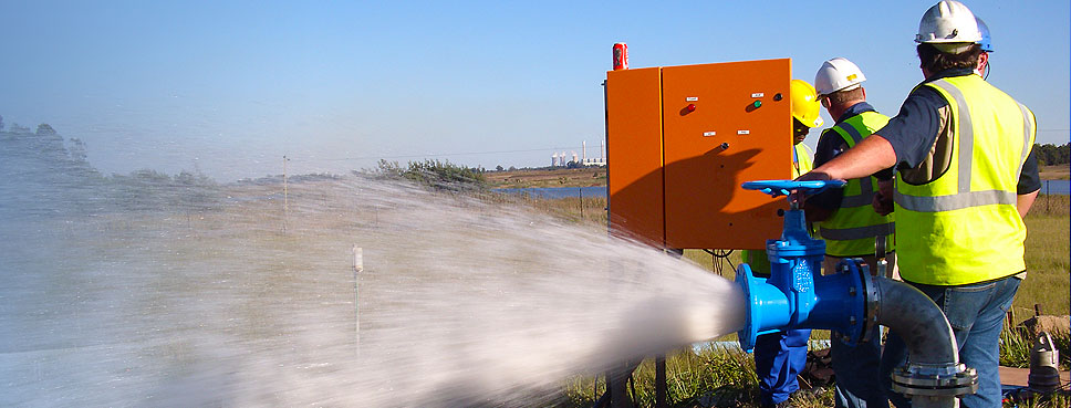
<instances>
[{"instance_id":1,"label":"man in white hard hat standing behind the outstretched arm","mask_svg":"<svg viewBox=\"0 0 1071 408\"><path fill-rule=\"evenodd\" d=\"M854 63L843 57L825 61L814 75L819 101L830 116L836 119L833 127L822 132L818 140L814 165L821 166L842 151L857 145L888 123L866 103L866 90L862 83L866 76ZM892 188L893 169L884 169L874 176L848 180L842 189L830 189L807 200L807 216L819 223L819 234L825 240L824 270L833 271L843 259L862 258L871 273L877 273L875 242L881 239L885 252L893 250L893 216L878 215L871 207L878 186ZM885 255L893 261L892 254ZM890 262L895 265L895 262ZM894 268L886 268L886 278L893 278ZM838 407L888 407L888 400L878 388L878 374L874 369L881 362L881 335L877 327L870 334L870 342L849 346L839 336L831 337L833 373L836 376Z\"/></svg>"}]
</instances>

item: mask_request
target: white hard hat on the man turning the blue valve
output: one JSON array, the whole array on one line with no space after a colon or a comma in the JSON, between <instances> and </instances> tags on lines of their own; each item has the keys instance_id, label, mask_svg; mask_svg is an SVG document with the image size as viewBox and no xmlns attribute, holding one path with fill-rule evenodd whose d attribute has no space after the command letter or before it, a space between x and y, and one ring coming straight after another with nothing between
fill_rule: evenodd
<instances>
[{"instance_id":1,"label":"white hard hat on the man turning the blue valve","mask_svg":"<svg viewBox=\"0 0 1071 408\"><path fill-rule=\"evenodd\" d=\"M953 53L966 51L978 41L981 32L975 14L954 0L944 0L926 10L915 34L915 42L935 44L940 51Z\"/></svg>"}]
</instances>

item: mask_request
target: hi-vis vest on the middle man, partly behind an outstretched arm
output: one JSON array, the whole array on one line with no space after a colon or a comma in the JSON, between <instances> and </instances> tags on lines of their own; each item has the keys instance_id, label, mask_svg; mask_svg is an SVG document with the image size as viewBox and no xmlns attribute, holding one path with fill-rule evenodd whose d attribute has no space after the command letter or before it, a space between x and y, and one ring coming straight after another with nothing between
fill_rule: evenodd
<instances>
[{"instance_id":1,"label":"hi-vis vest on the middle man, partly behind an outstretched arm","mask_svg":"<svg viewBox=\"0 0 1071 408\"><path fill-rule=\"evenodd\" d=\"M825 132L835 132L848 147L854 147L888 123L888 116L877 112L864 112L836 124ZM825 240L825 253L833 257L862 257L874 254L874 239L886 236L888 251L893 245L893 215L874 212L871 201L877 192L877 178L863 177L848 180L843 189L841 207L820 223L819 232Z\"/></svg>"}]
</instances>

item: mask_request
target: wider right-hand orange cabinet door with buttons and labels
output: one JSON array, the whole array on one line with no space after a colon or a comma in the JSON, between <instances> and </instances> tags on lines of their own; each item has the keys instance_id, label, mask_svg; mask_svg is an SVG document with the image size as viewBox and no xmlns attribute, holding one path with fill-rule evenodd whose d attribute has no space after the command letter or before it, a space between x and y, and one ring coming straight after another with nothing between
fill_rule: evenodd
<instances>
[{"instance_id":1,"label":"wider right-hand orange cabinet door with buttons and labels","mask_svg":"<svg viewBox=\"0 0 1071 408\"><path fill-rule=\"evenodd\" d=\"M791 178L791 60L669 66L662 76L667 247L763 248L780 237L788 205L740 184Z\"/></svg>"}]
</instances>

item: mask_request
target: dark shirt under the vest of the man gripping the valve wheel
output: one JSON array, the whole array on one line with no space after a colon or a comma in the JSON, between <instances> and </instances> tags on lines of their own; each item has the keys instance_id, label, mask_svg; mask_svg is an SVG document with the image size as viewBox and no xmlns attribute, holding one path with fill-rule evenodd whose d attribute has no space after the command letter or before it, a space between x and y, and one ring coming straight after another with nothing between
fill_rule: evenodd
<instances>
[{"instance_id":1,"label":"dark shirt under the vest of the man gripping the valve wheel","mask_svg":"<svg viewBox=\"0 0 1071 408\"><path fill-rule=\"evenodd\" d=\"M947 70L926 79L923 83L973 73L974 70L970 69ZM915 168L929 157L929 151L940 133L939 111L946 106L948 106L948 101L936 90L929 86L918 86L904 101L900 114L891 118L885 127L875 132L875 134L888 140L893 151L896 153L897 169ZM817 161L818 159L815 159L815 167L818 167ZM1039 189L1041 189L1041 179L1038 175L1038 158L1031 147L1030 155L1022 166L1017 191L1023 195Z\"/></svg>"}]
</instances>

